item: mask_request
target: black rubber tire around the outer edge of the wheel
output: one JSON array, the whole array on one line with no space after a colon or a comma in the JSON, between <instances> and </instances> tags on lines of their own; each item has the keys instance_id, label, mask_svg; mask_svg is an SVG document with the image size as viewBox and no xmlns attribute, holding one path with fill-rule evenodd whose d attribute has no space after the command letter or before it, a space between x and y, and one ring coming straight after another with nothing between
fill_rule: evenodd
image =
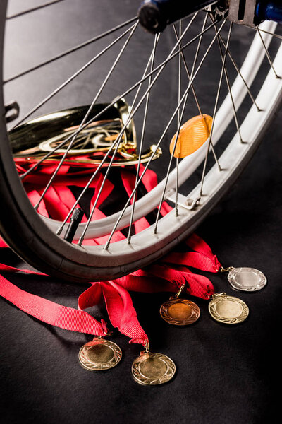
<instances>
[{"instance_id":1,"label":"black rubber tire around the outer edge of the wheel","mask_svg":"<svg viewBox=\"0 0 282 424\"><path fill-rule=\"evenodd\" d=\"M0 3L0 52L3 52L4 45L4 29L6 20L6 6L8 1L2 0ZM2 58L2 55L1 55ZM0 59L2 61L2 59ZM0 78L2 81L3 71L2 64L0 66ZM0 95L0 232L6 240L7 244L22 259L34 266L36 269L66 280L68 282L86 282L101 281L118 278L127 273L140 269L152 261L159 259L161 256L169 252L181 240L188 237L197 225L207 216L214 205L221 199L223 194L227 192L235 179L242 172L243 167L252 157L255 149L259 145L259 139L262 139L264 131L261 132L255 146L252 146L250 152L245 155L240 169L235 169L228 181L220 187L214 197L207 201L201 208L200 213L195 213L190 219L189 227L182 223L179 227L166 236L165 240L155 242L152 248L144 251L142 257L135 257L132 261L118 265L113 265L113 261L105 259L104 264L92 264L92 257L83 249L73 247L60 237L55 235L42 222L42 218L35 213L34 208L25 193L23 184L20 182L18 172L13 162L11 148L8 143L8 135L6 131L6 119L3 93ZM276 108L278 107L278 102ZM275 112L275 110L273 111ZM269 124L269 122L268 122ZM242 165L242 166L241 166ZM70 250L72 254L70 259ZM78 254L76 254L78 253ZM90 257L90 258L89 258ZM106 263L107 261L107 263ZM124 260L126 262L126 258Z\"/></svg>"}]
</instances>

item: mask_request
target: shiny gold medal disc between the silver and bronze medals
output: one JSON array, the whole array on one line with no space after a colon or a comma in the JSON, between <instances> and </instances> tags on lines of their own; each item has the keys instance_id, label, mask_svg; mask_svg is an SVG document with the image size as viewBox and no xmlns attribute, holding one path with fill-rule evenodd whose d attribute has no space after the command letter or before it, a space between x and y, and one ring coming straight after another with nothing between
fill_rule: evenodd
<instances>
[{"instance_id":1,"label":"shiny gold medal disc between the silver and bronze medals","mask_svg":"<svg viewBox=\"0 0 282 424\"><path fill-rule=\"evenodd\" d=\"M249 314L249 308L238 298L219 293L212 296L209 302L209 313L212 317L223 324L238 324L245 321Z\"/></svg>"}]
</instances>

